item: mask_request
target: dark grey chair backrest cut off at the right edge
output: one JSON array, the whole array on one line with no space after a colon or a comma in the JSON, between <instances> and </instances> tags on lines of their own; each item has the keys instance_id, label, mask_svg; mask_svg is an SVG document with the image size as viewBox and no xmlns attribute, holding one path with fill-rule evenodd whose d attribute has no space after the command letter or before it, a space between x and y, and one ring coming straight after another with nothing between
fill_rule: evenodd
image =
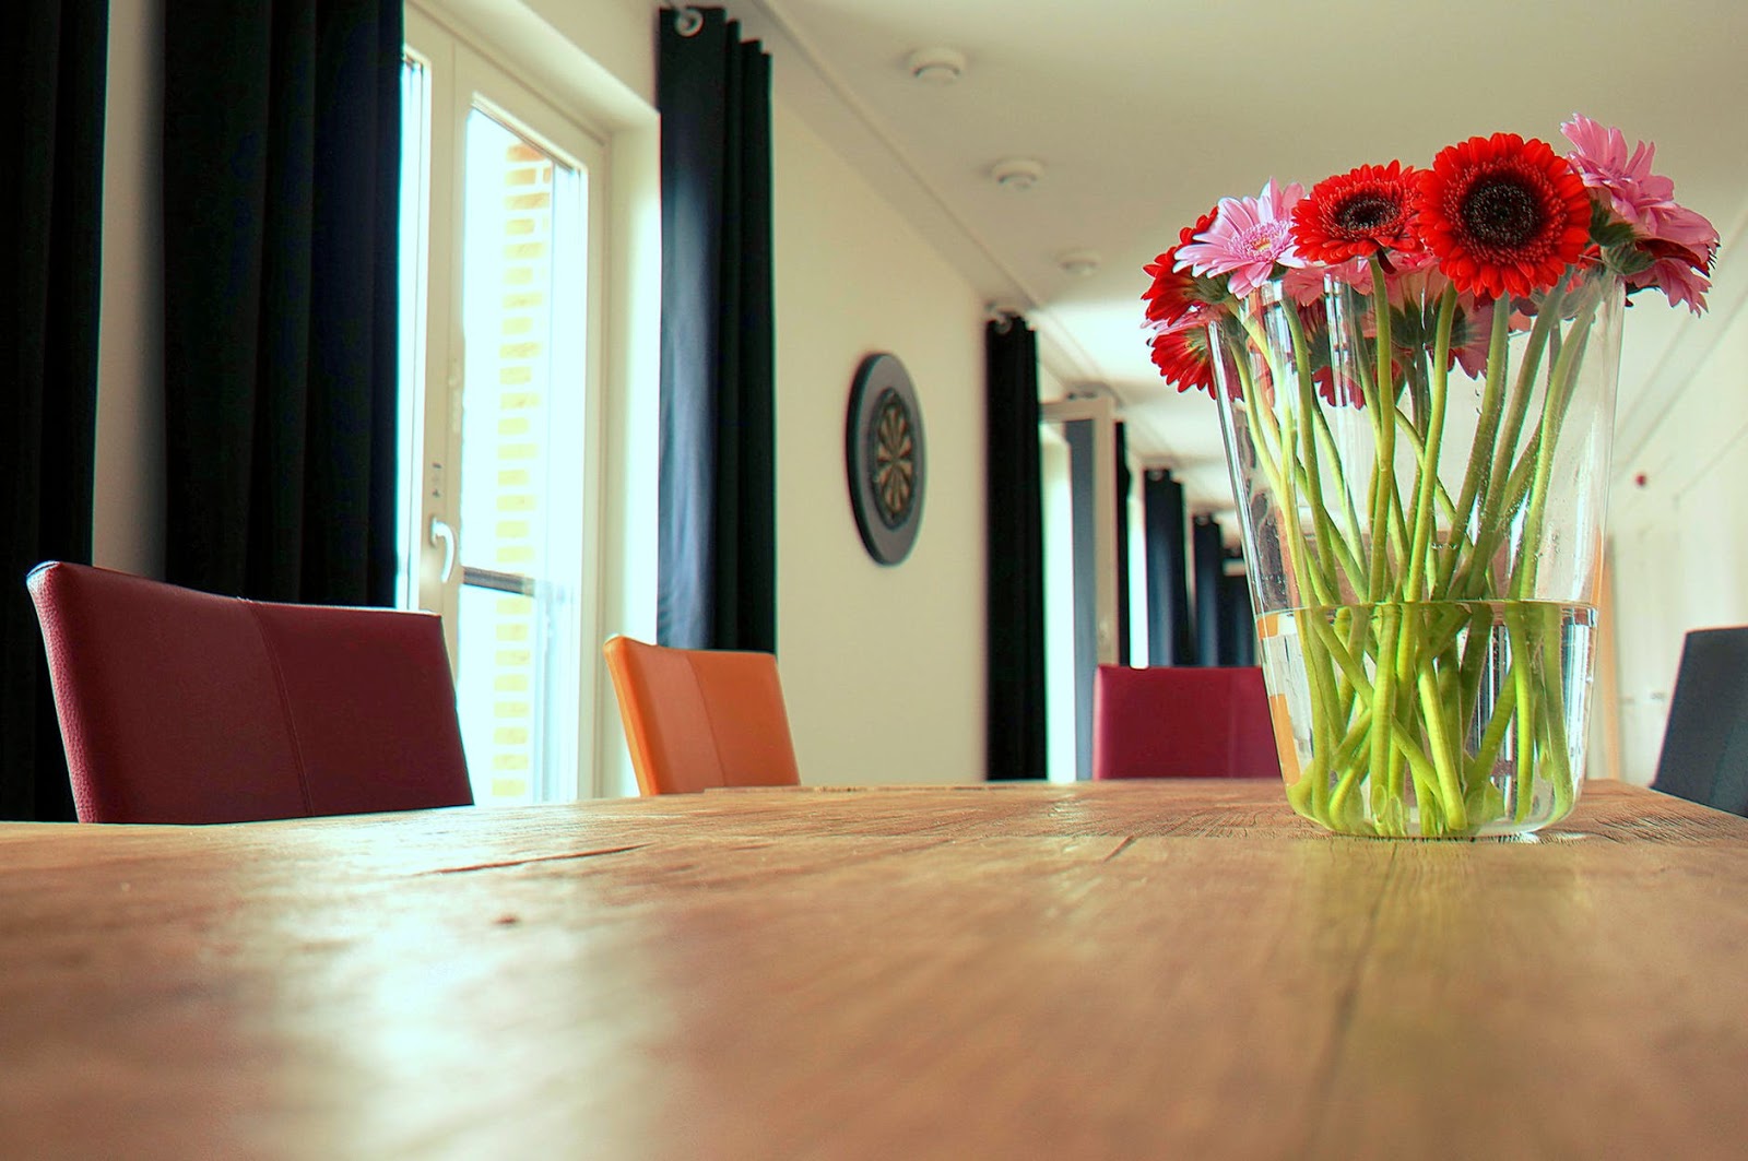
<instances>
[{"instance_id":1,"label":"dark grey chair backrest cut off at the right edge","mask_svg":"<svg viewBox=\"0 0 1748 1161\"><path fill-rule=\"evenodd\" d=\"M1694 629L1682 642L1650 787L1748 815L1748 626Z\"/></svg>"}]
</instances>

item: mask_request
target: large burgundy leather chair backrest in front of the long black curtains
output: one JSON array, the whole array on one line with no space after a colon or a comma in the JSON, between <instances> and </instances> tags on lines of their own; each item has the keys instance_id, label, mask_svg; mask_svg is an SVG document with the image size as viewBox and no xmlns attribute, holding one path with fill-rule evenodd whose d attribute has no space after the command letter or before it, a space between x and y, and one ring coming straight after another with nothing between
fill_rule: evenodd
<instances>
[{"instance_id":1,"label":"large burgundy leather chair backrest in front of the long black curtains","mask_svg":"<svg viewBox=\"0 0 1748 1161\"><path fill-rule=\"evenodd\" d=\"M31 570L80 822L250 822L474 801L435 614Z\"/></svg>"}]
</instances>

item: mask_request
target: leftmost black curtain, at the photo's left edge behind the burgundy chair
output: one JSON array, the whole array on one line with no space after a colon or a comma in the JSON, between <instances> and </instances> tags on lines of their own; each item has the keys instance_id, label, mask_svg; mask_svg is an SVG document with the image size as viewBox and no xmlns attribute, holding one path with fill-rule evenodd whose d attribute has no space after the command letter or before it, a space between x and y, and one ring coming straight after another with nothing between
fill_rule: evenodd
<instances>
[{"instance_id":1,"label":"leftmost black curtain, at the photo's left edge behind the burgundy chair","mask_svg":"<svg viewBox=\"0 0 1748 1161\"><path fill-rule=\"evenodd\" d=\"M108 3L10 0L0 28L0 817L58 822L73 796L24 574L91 560Z\"/></svg>"}]
</instances>

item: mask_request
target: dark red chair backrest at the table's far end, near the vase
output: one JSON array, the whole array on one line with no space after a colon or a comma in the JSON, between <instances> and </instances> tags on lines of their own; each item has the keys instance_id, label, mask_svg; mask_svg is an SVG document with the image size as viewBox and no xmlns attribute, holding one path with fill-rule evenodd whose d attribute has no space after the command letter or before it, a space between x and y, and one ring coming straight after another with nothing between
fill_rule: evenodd
<instances>
[{"instance_id":1,"label":"dark red chair backrest at the table's far end, near the vase","mask_svg":"<svg viewBox=\"0 0 1748 1161\"><path fill-rule=\"evenodd\" d=\"M1101 664L1092 776L1280 778L1262 670Z\"/></svg>"}]
</instances>

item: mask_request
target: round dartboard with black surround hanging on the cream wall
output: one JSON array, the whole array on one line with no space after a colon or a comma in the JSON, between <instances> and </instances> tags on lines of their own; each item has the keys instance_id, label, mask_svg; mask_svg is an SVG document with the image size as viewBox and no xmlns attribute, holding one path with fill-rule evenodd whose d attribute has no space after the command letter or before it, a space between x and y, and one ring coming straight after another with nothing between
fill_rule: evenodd
<instances>
[{"instance_id":1,"label":"round dartboard with black surround hanging on the cream wall","mask_svg":"<svg viewBox=\"0 0 1748 1161\"><path fill-rule=\"evenodd\" d=\"M897 565L923 521L923 413L897 355L869 355L850 386L844 425L850 507L862 544L881 565Z\"/></svg>"}]
</instances>

